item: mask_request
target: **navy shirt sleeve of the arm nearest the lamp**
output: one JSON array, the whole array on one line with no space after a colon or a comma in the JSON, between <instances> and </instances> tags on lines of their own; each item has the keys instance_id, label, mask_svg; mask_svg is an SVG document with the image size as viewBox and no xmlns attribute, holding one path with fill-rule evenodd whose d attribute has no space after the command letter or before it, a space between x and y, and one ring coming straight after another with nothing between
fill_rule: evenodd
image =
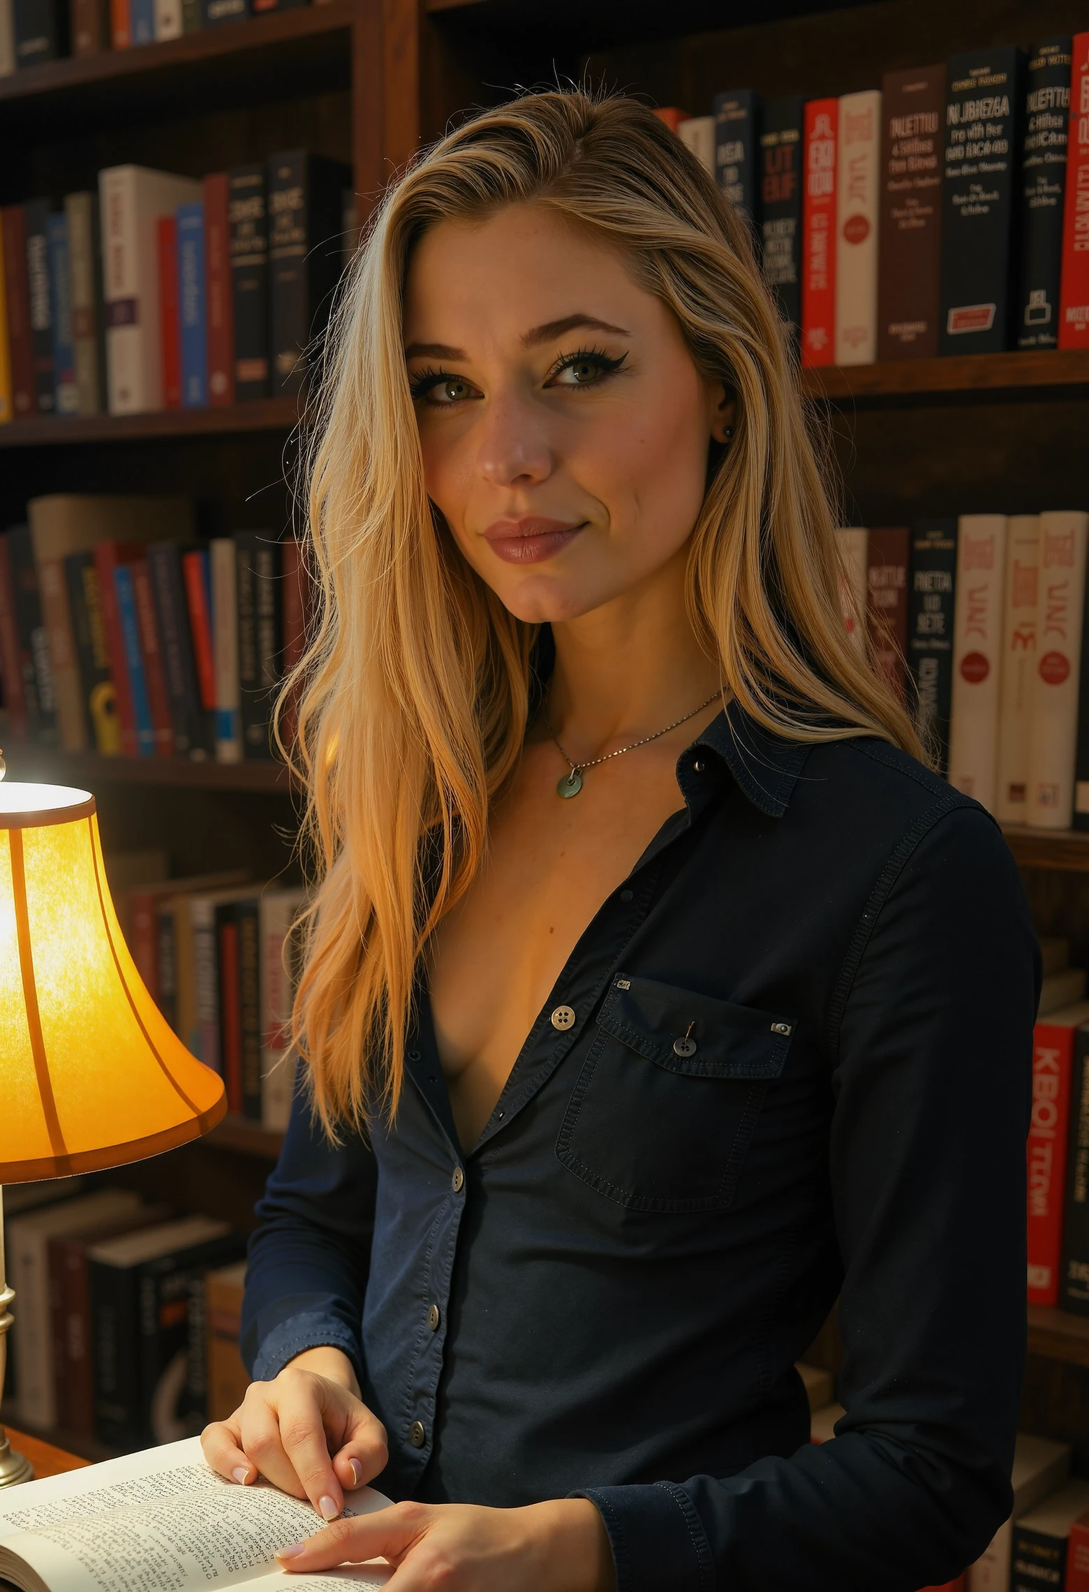
<instances>
[{"instance_id":1,"label":"navy shirt sleeve of the arm nearest the lamp","mask_svg":"<svg viewBox=\"0 0 1089 1592\"><path fill-rule=\"evenodd\" d=\"M302 1091L258 1204L242 1305L242 1358L274 1377L304 1348L342 1348L363 1374L360 1320L371 1264L376 1167L358 1134L330 1146Z\"/></svg>"}]
</instances>

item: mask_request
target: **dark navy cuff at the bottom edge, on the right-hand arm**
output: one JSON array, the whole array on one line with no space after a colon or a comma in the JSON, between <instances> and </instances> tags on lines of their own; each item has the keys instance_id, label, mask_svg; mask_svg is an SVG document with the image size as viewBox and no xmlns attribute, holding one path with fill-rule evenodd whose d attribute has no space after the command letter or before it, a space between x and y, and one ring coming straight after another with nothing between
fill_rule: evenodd
<instances>
[{"instance_id":1,"label":"dark navy cuff at the bottom edge, on the right-hand arm","mask_svg":"<svg viewBox=\"0 0 1089 1592\"><path fill-rule=\"evenodd\" d=\"M605 1522L616 1592L715 1592L715 1560L693 1500L675 1482L584 1487Z\"/></svg>"}]
</instances>

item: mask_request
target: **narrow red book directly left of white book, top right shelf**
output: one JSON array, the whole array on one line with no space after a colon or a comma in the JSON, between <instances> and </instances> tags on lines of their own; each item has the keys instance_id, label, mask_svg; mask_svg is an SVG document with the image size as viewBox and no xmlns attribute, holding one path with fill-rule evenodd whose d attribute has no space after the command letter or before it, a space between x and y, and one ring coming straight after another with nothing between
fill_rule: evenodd
<instances>
[{"instance_id":1,"label":"narrow red book directly left of white book, top right shelf","mask_svg":"<svg viewBox=\"0 0 1089 1592\"><path fill-rule=\"evenodd\" d=\"M836 350L836 134L839 100L807 100L802 185L802 365Z\"/></svg>"}]
</instances>

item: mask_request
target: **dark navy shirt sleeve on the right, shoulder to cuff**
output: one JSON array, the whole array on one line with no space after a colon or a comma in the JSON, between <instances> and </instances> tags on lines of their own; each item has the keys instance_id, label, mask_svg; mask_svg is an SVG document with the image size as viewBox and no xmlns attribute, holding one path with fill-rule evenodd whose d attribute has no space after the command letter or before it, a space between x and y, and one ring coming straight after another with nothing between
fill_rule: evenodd
<instances>
[{"instance_id":1,"label":"dark navy shirt sleeve on the right, shoulder to cuff","mask_svg":"<svg viewBox=\"0 0 1089 1592\"><path fill-rule=\"evenodd\" d=\"M1038 979L987 815L906 836L828 1014L847 1412L833 1441L726 1479L584 1489L619 1592L914 1592L1006 1519Z\"/></svg>"}]
</instances>

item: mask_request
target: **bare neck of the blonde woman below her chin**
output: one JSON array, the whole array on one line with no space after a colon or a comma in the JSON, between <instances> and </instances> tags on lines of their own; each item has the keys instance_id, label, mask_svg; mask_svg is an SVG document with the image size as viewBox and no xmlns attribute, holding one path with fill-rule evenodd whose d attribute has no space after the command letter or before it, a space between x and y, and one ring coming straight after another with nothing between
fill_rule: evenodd
<instances>
[{"instance_id":1,"label":"bare neck of the blonde woman below her chin","mask_svg":"<svg viewBox=\"0 0 1089 1592\"><path fill-rule=\"evenodd\" d=\"M683 548L643 586L552 624L548 712L572 756L653 734L718 691L718 665L685 611L686 554Z\"/></svg>"}]
</instances>

